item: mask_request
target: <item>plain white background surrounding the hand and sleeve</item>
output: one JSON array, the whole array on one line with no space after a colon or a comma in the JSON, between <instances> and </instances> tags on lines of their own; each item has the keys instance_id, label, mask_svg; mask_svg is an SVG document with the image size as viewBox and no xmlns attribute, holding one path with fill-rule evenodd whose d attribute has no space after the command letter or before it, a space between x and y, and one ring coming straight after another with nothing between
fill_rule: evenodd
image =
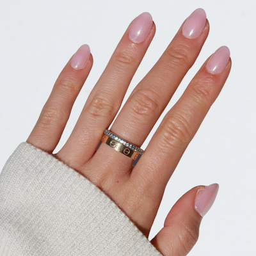
<instances>
[{"instance_id":1,"label":"plain white background surrounding the hand and sleeve","mask_svg":"<svg viewBox=\"0 0 256 256\"><path fill-rule=\"evenodd\" d=\"M230 48L232 70L166 188L150 237L186 191L218 182L216 202L204 217L200 239L189 255L255 255L255 1L1 0L0 5L1 167L28 138L56 77L80 45L90 45L94 64L58 149L132 19L150 12L157 32L129 92L190 13L204 8L210 22L209 37L167 110L221 45Z\"/></svg>"}]
</instances>

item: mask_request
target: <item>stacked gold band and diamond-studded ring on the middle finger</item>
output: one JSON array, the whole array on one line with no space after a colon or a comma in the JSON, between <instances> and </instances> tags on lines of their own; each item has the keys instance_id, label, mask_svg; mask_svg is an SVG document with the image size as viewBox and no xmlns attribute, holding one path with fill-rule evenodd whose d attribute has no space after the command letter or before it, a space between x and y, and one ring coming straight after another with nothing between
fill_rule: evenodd
<instances>
[{"instance_id":1,"label":"stacked gold band and diamond-studded ring on the middle finger","mask_svg":"<svg viewBox=\"0 0 256 256\"><path fill-rule=\"evenodd\" d=\"M132 145L123 138L117 136L113 132L108 130L104 131L104 135L101 139L102 142L109 145L109 147L114 148L116 151L124 154L125 156L131 157L131 159L136 160L139 154L143 154L143 150L135 145Z\"/></svg>"}]
</instances>

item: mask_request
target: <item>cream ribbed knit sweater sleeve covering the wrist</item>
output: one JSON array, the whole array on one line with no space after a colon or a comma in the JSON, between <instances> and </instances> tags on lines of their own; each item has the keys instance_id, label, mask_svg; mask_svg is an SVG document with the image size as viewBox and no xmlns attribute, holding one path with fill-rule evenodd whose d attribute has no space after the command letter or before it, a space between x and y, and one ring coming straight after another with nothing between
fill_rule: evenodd
<instances>
[{"instance_id":1,"label":"cream ribbed knit sweater sleeve covering the wrist","mask_svg":"<svg viewBox=\"0 0 256 256\"><path fill-rule=\"evenodd\" d=\"M21 143L0 174L0 255L161 255L88 179Z\"/></svg>"}]
</instances>

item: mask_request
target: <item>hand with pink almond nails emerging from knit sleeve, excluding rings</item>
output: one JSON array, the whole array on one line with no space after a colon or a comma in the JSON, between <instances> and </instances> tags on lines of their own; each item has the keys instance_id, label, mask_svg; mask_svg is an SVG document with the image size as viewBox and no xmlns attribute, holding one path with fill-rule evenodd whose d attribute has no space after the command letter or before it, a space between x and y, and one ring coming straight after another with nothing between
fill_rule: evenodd
<instances>
[{"instance_id":1,"label":"hand with pink almond nails emerging from knit sleeve, excluding rings","mask_svg":"<svg viewBox=\"0 0 256 256\"><path fill-rule=\"evenodd\" d=\"M221 47L202 65L179 101L164 116L140 161L102 143L132 76L147 51L156 26L149 13L132 21L86 101L64 147L54 156L104 191L148 236L164 188L180 157L218 97L230 72L227 47ZM138 33L140 32L140 33ZM140 147L195 62L209 33L202 9L180 27L166 51L131 93L111 132ZM28 143L52 154L67 124L93 58L83 45L61 72ZM164 228L152 240L163 255L186 255L196 243L202 216L211 207L218 185L191 189L173 206Z\"/></svg>"}]
</instances>

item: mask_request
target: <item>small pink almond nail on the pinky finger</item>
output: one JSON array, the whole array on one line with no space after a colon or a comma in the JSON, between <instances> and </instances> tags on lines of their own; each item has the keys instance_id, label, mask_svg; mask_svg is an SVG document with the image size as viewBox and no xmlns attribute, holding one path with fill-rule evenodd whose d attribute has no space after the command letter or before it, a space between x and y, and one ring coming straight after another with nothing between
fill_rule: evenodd
<instances>
[{"instance_id":1,"label":"small pink almond nail on the pinky finger","mask_svg":"<svg viewBox=\"0 0 256 256\"><path fill-rule=\"evenodd\" d=\"M91 51L89 45L82 45L71 60L71 67L75 69L83 69L90 58L90 53Z\"/></svg>"}]
</instances>

